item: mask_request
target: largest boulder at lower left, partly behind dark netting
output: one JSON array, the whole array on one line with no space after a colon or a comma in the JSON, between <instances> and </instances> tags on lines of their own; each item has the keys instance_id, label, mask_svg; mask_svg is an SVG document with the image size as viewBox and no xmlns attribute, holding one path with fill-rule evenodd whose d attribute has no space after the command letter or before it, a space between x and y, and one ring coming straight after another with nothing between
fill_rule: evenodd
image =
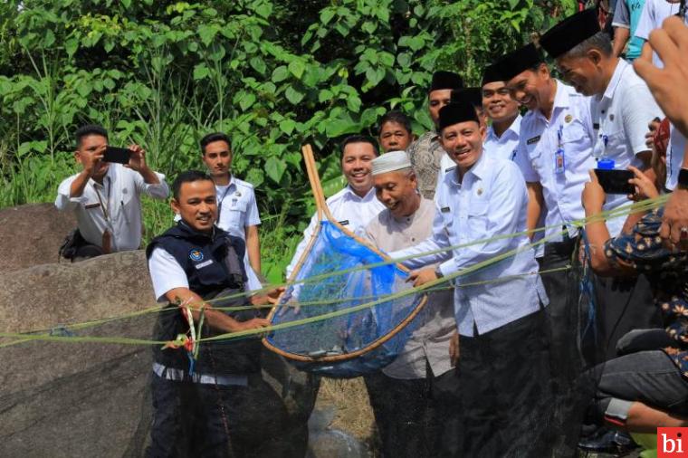
<instances>
[{"instance_id":1,"label":"largest boulder at lower left, partly behind dark netting","mask_svg":"<svg viewBox=\"0 0 688 458\"><path fill-rule=\"evenodd\" d=\"M0 331L150 339L155 306L143 252L46 264L0 278ZM65 330L66 329L66 330ZM8 339L0 339L4 344ZM148 436L148 346L24 342L0 348L0 456L139 456Z\"/></svg>"}]
</instances>

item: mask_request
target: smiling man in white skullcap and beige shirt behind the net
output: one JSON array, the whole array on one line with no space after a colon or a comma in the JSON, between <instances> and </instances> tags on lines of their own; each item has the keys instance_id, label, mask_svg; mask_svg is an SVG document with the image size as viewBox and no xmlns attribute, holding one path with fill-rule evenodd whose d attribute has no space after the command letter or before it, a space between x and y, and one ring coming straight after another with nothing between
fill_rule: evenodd
<instances>
[{"instance_id":1,"label":"smiling man in white skullcap and beige shirt behind the net","mask_svg":"<svg viewBox=\"0 0 688 458\"><path fill-rule=\"evenodd\" d=\"M392 252L429 237L435 204L418 194L406 152L376 157L372 167L377 199L387 208L368 223L368 240ZM461 408L449 355L456 331L454 291L446 286L428 294L425 308L414 319L418 328L397 358L365 377L383 456L452 455L459 442Z\"/></svg>"}]
</instances>

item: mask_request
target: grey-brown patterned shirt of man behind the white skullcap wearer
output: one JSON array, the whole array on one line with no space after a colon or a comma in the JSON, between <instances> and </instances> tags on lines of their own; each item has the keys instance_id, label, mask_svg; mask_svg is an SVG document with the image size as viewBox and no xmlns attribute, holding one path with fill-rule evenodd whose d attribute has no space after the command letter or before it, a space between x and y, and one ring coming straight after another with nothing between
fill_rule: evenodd
<instances>
[{"instance_id":1,"label":"grey-brown patterned shirt of man behind the white skullcap wearer","mask_svg":"<svg viewBox=\"0 0 688 458\"><path fill-rule=\"evenodd\" d=\"M444 156L444 148L440 145L439 136L434 130L425 132L406 149L411 165L418 178L418 191L426 199L435 196L437 184L437 172L440 169L440 161Z\"/></svg>"}]
</instances>

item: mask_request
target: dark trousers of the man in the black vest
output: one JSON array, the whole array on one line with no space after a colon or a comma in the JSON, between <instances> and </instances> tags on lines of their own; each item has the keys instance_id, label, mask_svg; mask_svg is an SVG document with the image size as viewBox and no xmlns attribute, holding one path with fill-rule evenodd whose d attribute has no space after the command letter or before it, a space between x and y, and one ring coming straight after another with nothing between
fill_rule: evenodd
<instances>
[{"instance_id":1,"label":"dark trousers of the man in the black vest","mask_svg":"<svg viewBox=\"0 0 688 458\"><path fill-rule=\"evenodd\" d=\"M263 380L218 386L153 375L153 425L148 458L280 458L290 444L282 400Z\"/></svg>"}]
</instances>

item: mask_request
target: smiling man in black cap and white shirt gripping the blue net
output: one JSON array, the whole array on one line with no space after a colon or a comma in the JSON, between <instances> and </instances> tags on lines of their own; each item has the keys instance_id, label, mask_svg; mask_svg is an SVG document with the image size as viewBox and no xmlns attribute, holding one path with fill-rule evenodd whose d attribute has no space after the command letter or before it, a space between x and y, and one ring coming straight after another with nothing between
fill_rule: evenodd
<instances>
[{"instance_id":1,"label":"smiling man in black cap and white shirt gripping the blue net","mask_svg":"<svg viewBox=\"0 0 688 458\"><path fill-rule=\"evenodd\" d=\"M471 104L440 110L439 131L457 167L435 196L433 234L390 256L416 255L404 261L410 268L441 262L412 272L415 286L454 280L462 456L548 456L548 300L530 240L522 234L525 182L513 162L483 154L484 131ZM435 251L440 253L428 254ZM482 264L497 256L505 259Z\"/></svg>"}]
</instances>

